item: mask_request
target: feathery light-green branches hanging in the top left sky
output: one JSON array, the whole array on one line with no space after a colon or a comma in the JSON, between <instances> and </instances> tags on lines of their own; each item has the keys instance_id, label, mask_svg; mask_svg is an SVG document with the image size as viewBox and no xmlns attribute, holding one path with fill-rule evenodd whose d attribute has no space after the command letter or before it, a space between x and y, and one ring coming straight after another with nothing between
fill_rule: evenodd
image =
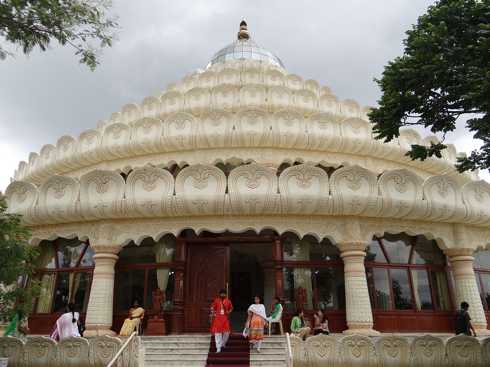
<instances>
[{"instance_id":1,"label":"feathery light-green branches hanging in the top left sky","mask_svg":"<svg viewBox=\"0 0 490 367\"><path fill-rule=\"evenodd\" d=\"M100 64L102 49L118 40L110 33L117 28L118 17L105 13L112 6L109 0L0 0L0 36L26 55L36 46L45 51L52 40L69 44L81 56L80 64L93 71ZM99 46L90 40L97 40ZM9 55L15 56L0 45L0 60Z\"/></svg>"}]
</instances>

